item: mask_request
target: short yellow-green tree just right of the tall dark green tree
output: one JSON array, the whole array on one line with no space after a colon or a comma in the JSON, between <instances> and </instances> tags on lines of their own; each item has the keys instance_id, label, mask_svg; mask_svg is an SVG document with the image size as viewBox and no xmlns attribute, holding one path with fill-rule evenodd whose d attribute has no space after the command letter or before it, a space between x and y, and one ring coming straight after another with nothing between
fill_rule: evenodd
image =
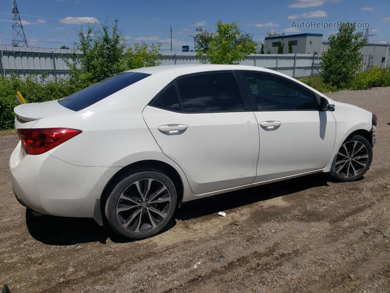
<instances>
[{"instance_id":1,"label":"short yellow-green tree just right of the tall dark green tree","mask_svg":"<svg viewBox=\"0 0 390 293\"><path fill-rule=\"evenodd\" d=\"M160 48L161 43L157 46L152 45L150 48L146 43L135 44L134 49L128 48L125 53L126 70L160 65L162 58Z\"/></svg>"}]
</instances>

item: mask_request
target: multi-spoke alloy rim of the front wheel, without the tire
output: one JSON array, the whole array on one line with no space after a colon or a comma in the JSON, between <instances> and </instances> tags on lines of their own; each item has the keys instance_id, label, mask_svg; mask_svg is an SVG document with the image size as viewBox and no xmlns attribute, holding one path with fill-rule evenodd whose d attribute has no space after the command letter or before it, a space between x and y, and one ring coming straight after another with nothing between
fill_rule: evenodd
<instances>
[{"instance_id":1,"label":"multi-spoke alloy rim of the front wheel, without the tire","mask_svg":"<svg viewBox=\"0 0 390 293\"><path fill-rule=\"evenodd\" d=\"M367 166L368 160L369 152L362 142L347 141L337 152L335 172L346 178L358 176Z\"/></svg>"}]
</instances>

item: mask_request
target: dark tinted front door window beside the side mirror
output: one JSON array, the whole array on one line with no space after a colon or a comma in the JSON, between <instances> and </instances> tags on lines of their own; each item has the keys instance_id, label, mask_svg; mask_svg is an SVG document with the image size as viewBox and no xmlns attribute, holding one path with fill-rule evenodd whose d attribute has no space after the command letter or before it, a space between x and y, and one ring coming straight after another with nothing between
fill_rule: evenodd
<instances>
[{"instance_id":1,"label":"dark tinted front door window beside the side mirror","mask_svg":"<svg viewBox=\"0 0 390 293\"><path fill-rule=\"evenodd\" d=\"M316 97L288 80L256 73L245 78L259 111L317 110Z\"/></svg>"}]
</instances>

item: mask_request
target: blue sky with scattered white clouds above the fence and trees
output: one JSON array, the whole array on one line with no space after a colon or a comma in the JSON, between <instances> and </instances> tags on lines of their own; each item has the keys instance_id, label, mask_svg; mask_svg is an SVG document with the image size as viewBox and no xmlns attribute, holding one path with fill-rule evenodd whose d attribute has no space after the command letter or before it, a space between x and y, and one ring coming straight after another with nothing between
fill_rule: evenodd
<instances>
[{"instance_id":1,"label":"blue sky with scattered white clouds above the fence and trees","mask_svg":"<svg viewBox=\"0 0 390 293\"><path fill-rule=\"evenodd\" d=\"M293 21L357 21L369 22L370 42L390 41L390 0L17 0L29 46L72 47L77 40L76 29L88 22L115 18L128 43L161 42L169 49L170 25L174 50L182 45L193 47L189 36L197 26L214 31L215 23L237 21L241 30L262 40L269 30L295 33L319 33L323 39L337 29L292 29ZM2 43L11 44L11 0L0 1ZM97 27L99 24L97 23ZM39 42L38 42L39 41ZM47 43L44 43L47 42ZM62 42L62 43L55 43Z\"/></svg>"}]
</instances>

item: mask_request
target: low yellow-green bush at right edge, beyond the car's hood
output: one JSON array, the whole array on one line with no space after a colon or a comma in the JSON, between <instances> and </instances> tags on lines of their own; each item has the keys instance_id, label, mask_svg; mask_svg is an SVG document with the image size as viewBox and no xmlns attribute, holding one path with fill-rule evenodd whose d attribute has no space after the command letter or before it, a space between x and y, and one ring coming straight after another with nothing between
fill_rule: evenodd
<instances>
[{"instance_id":1,"label":"low yellow-green bush at right edge, beyond the car's hood","mask_svg":"<svg viewBox=\"0 0 390 293\"><path fill-rule=\"evenodd\" d=\"M370 67L366 71L356 73L352 81L352 89L369 89L377 86L390 86L390 70Z\"/></svg>"}]
</instances>

